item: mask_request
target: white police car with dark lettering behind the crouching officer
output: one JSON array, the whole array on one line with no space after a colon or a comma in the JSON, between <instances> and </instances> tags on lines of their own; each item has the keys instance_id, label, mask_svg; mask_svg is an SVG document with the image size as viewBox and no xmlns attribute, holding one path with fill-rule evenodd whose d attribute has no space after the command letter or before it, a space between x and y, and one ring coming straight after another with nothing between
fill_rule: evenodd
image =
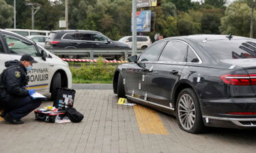
<instances>
[{"instance_id":1,"label":"white police car with dark lettering behind the crouching officer","mask_svg":"<svg viewBox=\"0 0 256 153\"><path fill-rule=\"evenodd\" d=\"M0 29L0 73L5 69L5 62L20 60L23 54L31 54L38 63L27 71L29 84L27 89L35 89L43 95L51 92L55 98L55 89L72 86L72 74L68 63L62 61L34 41L16 33Z\"/></svg>"}]
</instances>

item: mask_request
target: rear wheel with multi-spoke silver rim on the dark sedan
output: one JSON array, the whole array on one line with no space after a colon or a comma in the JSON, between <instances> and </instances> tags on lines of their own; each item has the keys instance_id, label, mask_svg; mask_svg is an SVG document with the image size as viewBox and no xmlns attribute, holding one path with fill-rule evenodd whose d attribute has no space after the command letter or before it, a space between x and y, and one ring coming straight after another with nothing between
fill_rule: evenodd
<instances>
[{"instance_id":1,"label":"rear wheel with multi-spoke silver rim on the dark sedan","mask_svg":"<svg viewBox=\"0 0 256 153\"><path fill-rule=\"evenodd\" d=\"M183 131L194 134L203 132L201 108L192 88L182 90L177 97L176 117L177 124Z\"/></svg>"}]
</instances>

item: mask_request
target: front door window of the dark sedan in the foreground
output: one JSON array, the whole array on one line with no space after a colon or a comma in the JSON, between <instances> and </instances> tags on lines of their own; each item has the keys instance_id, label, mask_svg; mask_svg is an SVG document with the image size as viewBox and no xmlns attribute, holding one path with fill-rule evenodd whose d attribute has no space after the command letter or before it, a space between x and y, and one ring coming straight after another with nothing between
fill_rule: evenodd
<instances>
[{"instance_id":1,"label":"front door window of the dark sedan in the foreground","mask_svg":"<svg viewBox=\"0 0 256 153\"><path fill-rule=\"evenodd\" d=\"M156 61L158 54L162 50L162 47L165 45L165 41L161 41L158 44L154 44L150 46L141 56L139 57L139 61Z\"/></svg>"}]
</instances>

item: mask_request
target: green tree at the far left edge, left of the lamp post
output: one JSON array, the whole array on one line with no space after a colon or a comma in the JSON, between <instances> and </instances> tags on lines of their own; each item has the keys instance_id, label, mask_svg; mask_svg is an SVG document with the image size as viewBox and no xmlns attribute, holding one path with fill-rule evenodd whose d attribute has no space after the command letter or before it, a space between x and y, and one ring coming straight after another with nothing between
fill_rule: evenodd
<instances>
[{"instance_id":1,"label":"green tree at the far left edge, left of the lamp post","mask_svg":"<svg viewBox=\"0 0 256 153\"><path fill-rule=\"evenodd\" d=\"M12 27L13 10L12 5L8 5L4 0L0 0L0 28L5 29Z\"/></svg>"}]
</instances>

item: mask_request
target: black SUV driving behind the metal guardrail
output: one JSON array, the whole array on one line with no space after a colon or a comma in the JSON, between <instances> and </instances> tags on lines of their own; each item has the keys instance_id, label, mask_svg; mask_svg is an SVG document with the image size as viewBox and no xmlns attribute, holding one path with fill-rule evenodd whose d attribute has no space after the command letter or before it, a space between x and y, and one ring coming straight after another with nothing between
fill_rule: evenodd
<instances>
[{"instance_id":1,"label":"black SUV driving behind the metal guardrail","mask_svg":"<svg viewBox=\"0 0 256 153\"><path fill-rule=\"evenodd\" d=\"M51 31L50 35L45 41L44 48L131 49L128 44L113 41L98 31L85 30Z\"/></svg>"}]
</instances>

